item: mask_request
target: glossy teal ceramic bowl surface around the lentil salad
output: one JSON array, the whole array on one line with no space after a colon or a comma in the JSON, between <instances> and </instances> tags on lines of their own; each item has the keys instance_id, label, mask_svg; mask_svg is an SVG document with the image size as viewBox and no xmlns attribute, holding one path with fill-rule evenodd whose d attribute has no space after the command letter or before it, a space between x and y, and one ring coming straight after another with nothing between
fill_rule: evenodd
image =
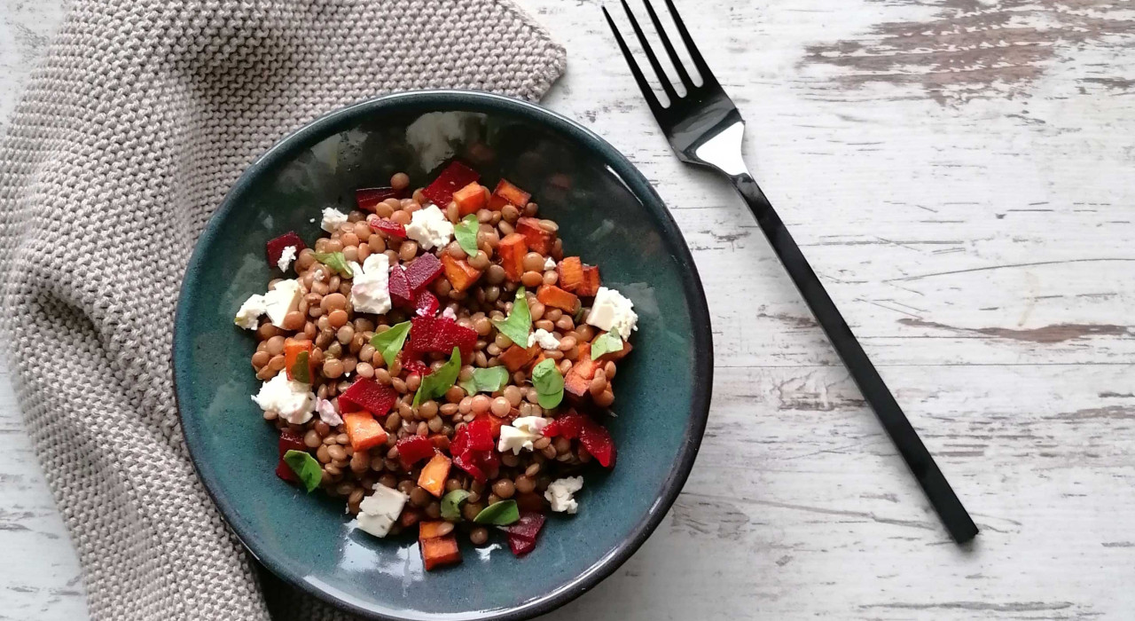
<instances>
[{"instance_id":1,"label":"glossy teal ceramic bowl surface around the lentil salad","mask_svg":"<svg viewBox=\"0 0 1135 621\"><path fill-rule=\"evenodd\" d=\"M599 263L639 313L634 351L615 379L619 447L586 476L573 517L554 514L516 559L494 537L463 562L424 572L411 538L376 539L339 500L276 478L276 434L250 400L255 342L233 325L276 277L264 243L294 229L309 243L319 210L398 170L414 186L456 156L490 186L529 190L561 225L564 247ZM278 274L278 272L277 272ZM531 103L474 92L379 98L327 115L257 160L225 198L190 260L177 304L174 377L197 473L249 551L286 582L372 619L526 619L611 574L650 535L693 464L709 409L713 344L705 295L674 220L627 158L580 125Z\"/></svg>"}]
</instances>

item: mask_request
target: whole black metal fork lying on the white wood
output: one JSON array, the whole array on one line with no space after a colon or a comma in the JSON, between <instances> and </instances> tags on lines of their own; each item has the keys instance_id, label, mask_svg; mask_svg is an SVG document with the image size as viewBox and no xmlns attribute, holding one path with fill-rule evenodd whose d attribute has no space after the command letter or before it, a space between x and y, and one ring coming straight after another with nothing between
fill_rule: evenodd
<instances>
[{"instance_id":1,"label":"whole black metal fork lying on the white wood","mask_svg":"<svg viewBox=\"0 0 1135 621\"><path fill-rule=\"evenodd\" d=\"M871 403L875 410L875 414L883 423L888 435L891 436L891 440L898 447L902 459L906 460L910 471L918 479L918 484L922 485L926 497L938 511L950 536L959 544L973 539L977 535L977 526L974 525L974 520L966 512L966 507L961 505L961 501L953 493L938 464L934 463L934 458L931 456L930 451L926 450L918 434L910 426L910 421L907 420L902 409L894 401L891 391L883 384L883 378L878 376L875 366L864 353L859 341L851 334L851 328L843 320L843 316L835 308L831 296L824 291L824 285L816 277L816 272L804 258L800 247L792 240L788 229L784 228L784 223L781 221L765 193L762 192L760 186L746 168L745 160L741 158L741 137L745 133L745 121L741 119L741 114L737 111L737 106L725 94L705 59L701 58L701 53L698 52L697 45L690 39L690 33L686 30L681 16L678 15L673 1L665 0L666 8L674 19L674 26L682 37L682 43L690 54L695 68L701 75L700 85L695 85L687 73L681 58L666 35L666 31L662 27L658 15L650 6L650 0L642 1L658 39L678 73L678 78L686 87L684 96L680 96L675 92L658 62L658 58L647 42L642 28L634 18L634 14L627 6L627 0L621 0L623 10L627 11L627 17L630 18L631 27L634 30L634 35L641 43L650 67L658 76L662 91L670 100L667 106L663 106L658 101L650 84L642 76L642 70L639 69L638 62L634 61L633 54L631 54L606 8L603 9L603 15L606 16L611 31L615 33L615 40L627 58L631 74L634 75L634 81L638 82L658 126L666 134L671 148L680 160L716 170L733 182L733 187L749 205L760 230L764 232L781 263L784 265L784 269L796 283L797 288L800 289L800 294L804 295L808 308L812 309L821 327L824 328L827 338L835 346L835 351L839 352L843 363L851 372L851 377L855 378L867 403Z\"/></svg>"}]
</instances>

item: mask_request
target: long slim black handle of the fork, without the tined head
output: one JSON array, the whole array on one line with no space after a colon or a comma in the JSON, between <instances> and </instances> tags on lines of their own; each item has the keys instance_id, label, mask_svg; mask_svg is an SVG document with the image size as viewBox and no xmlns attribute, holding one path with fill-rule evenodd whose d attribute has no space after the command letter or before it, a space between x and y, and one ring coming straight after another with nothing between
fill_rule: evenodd
<instances>
[{"instance_id":1,"label":"long slim black handle of the fork, without the tined head","mask_svg":"<svg viewBox=\"0 0 1135 621\"><path fill-rule=\"evenodd\" d=\"M875 410L875 416L883 423L886 434L891 436L891 442L898 447L910 471L918 479L918 484L922 485L926 497L938 511L950 536L959 544L973 539L977 535L977 526L974 525L974 520L966 512L966 507L961 505L961 501L953 493L938 464L934 463L934 458L926 450L906 414L902 413L902 409L894 401L894 396L883 383L883 378L878 376L875 366L864 353L859 341L851 334L851 328L843 320L843 316L835 308L831 296L824 291L824 285L821 284L816 272L804 258L800 246L792 240L792 235L784 227L784 223L776 215L760 186L748 173L730 175L730 178L745 202L748 203L760 230L764 232L768 243L776 251L784 269L788 270L792 282L796 283L804 300L808 303L808 308L812 309L821 327L824 328L824 333L827 334L827 338L835 346L843 364L851 371L851 377L855 378L863 396Z\"/></svg>"}]
</instances>

